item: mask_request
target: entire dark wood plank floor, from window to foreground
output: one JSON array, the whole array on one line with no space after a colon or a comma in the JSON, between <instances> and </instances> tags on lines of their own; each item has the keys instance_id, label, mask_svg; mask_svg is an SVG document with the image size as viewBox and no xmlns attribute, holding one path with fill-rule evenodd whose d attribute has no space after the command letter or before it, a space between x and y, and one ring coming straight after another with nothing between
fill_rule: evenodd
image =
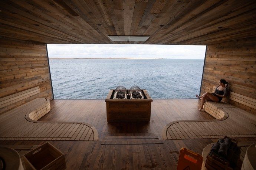
<instances>
[{"instance_id":1,"label":"entire dark wood plank floor, from window to foreground","mask_svg":"<svg viewBox=\"0 0 256 170\"><path fill-rule=\"evenodd\" d=\"M214 119L199 112L198 99L155 99L151 121L107 123L104 100L53 100L39 121L81 121L94 126L98 141L49 141L65 154L67 169L176 169L181 147L202 153L216 139L163 140L175 120ZM256 141L255 137L236 138ZM0 145L42 145L45 141L0 141Z\"/></svg>"}]
</instances>

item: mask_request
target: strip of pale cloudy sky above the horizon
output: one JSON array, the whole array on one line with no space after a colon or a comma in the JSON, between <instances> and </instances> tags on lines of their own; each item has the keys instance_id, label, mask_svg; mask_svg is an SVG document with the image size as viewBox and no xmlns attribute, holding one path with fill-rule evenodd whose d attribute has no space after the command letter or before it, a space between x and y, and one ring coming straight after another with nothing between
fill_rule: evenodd
<instances>
[{"instance_id":1,"label":"strip of pale cloudy sky above the horizon","mask_svg":"<svg viewBox=\"0 0 256 170\"><path fill-rule=\"evenodd\" d=\"M47 44L49 58L204 59L205 45Z\"/></svg>"}]
</instances>

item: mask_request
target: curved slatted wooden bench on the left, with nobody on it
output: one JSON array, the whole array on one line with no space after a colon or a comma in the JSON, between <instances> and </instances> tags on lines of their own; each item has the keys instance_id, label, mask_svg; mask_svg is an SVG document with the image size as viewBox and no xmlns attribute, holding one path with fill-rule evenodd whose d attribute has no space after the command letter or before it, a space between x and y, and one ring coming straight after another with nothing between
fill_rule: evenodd
<instances>
[{"instance_id":1,"label":"curved slatted wooden bench on the left, with nobody on it","mask_svg":"<svg viewBox=\"0 0 256 170\"><path fill-rule=\"evenodd\" d=\"M87 123L37 121L49 111L49 99L36 98L0 115L0 140L98 140Z\"/></svg>"}]
</instances>

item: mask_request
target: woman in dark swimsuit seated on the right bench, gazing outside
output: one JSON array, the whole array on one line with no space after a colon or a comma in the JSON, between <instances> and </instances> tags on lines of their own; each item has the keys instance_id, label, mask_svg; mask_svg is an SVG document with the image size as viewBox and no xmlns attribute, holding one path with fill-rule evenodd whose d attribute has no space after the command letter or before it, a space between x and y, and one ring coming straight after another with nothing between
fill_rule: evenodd
<instances>
[{"instance_id":1,"label":"woman in dark swimsuit seated on the right bench, gazing outside","mask_svg":"<svg viewBox=\"0 0 256 170\"><path fill-rule=\"evenodd\" d=\"M225 84L227 84L225 86ZM196 95L197 98L201 99L201 107L199 111L203 109L205 101L213 101L213 102L220 102L222 98L225 98L227 96L227 86L229 85L229 82L227 82L224 79L220 79L219 86L215 89L214 93L204 93L201 96Z\"/></svg>"}]
</instances>

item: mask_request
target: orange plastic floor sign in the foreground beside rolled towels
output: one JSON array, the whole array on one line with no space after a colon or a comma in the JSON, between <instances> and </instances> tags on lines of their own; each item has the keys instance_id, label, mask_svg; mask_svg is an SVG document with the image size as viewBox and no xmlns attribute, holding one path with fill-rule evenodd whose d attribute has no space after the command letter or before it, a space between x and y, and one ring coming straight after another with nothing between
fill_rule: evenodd
<instances>
[{"instance_id":1,"label":"orange plastic floor sign in the foreground beside rolled towels","mask_svg":"<svg viewBox=\"0 0 256 170\"><path fill-rule=\"evenodd\" d=\"M201 170L203 157L186 148L180 149L177 170Z\"/></svg>"}]
</instances>

